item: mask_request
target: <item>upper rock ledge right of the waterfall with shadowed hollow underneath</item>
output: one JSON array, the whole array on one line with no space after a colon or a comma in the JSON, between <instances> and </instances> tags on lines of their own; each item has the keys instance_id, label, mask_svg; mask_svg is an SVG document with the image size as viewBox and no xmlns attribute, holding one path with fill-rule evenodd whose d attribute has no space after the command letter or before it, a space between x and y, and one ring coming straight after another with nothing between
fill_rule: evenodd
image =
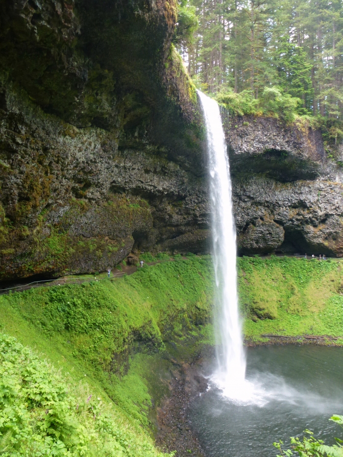
<instances>
[{"instance_id":1,"label":"upper rock ledge right of the waterfall with shadowed hollow underneath","mask_svg":"<svg viewBox=\"0 0 343 457\"><path fill-rule=\"evenodd\" d=\"M320 130L275 118L223 116L233 175L261 174L278 181L320 176L325 151Z\"/></svg>"}]
</instances>

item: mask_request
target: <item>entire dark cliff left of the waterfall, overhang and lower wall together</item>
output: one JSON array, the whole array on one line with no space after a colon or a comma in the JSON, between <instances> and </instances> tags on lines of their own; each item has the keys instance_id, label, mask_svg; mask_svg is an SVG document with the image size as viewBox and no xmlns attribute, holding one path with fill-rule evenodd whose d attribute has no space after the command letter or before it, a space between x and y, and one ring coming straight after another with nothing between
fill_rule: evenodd
<instances>
[{"instance_id":1,"label":"entire dark cliff left of the waterfall, overhang and lower wall together","mask_svg":"<svg viewBox=\"0 0 343 457\"><path fill-rule=\"evenodd\" d=\"M207 250L173 1L0 1L0 279Z\"/></svg>"}]
</instances>

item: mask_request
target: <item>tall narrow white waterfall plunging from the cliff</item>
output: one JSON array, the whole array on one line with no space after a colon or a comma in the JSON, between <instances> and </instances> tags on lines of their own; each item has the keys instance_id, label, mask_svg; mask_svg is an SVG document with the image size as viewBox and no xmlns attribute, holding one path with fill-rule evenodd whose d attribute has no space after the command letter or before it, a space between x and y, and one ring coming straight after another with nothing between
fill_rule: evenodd
<instances>
[{"instance_id":1,"label":"tall narrow white waterfall plunging from the cliff","mask_svg":"<svg viewBox=\"0 0 343 457\"><path fill-rule=\"evenodd\" d=\"M225 396L244 401L250 383L245 381L246 362L238 312L236 230L229 161L218 103L199 91L198 95L207 128L217 328L220 334L218 368L211 379Z\"/></svg>"}]
</instances>

